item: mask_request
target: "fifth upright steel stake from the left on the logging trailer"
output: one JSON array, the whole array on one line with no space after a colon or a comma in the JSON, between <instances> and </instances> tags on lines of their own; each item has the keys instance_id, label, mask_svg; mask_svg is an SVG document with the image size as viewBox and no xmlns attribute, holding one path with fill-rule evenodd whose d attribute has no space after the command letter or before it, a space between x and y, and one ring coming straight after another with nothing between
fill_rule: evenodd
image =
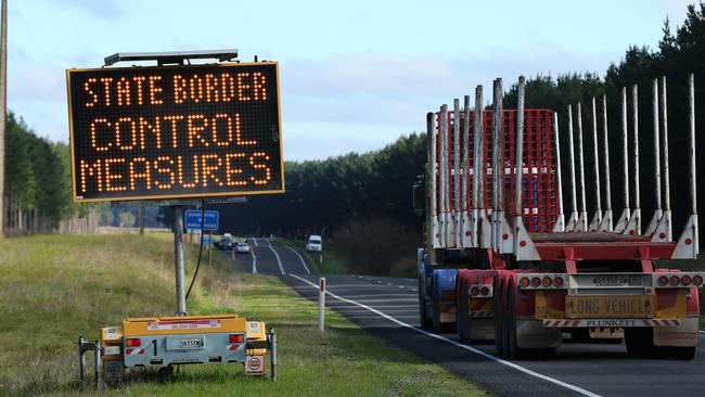
<instances>
[{"instance_id":1,"label":"fifth upright steel stake from the left on the logging trailer","mask_svg":"<svg viewBox=\"0 0 705 397\"><path fill-rule=\"evenodd\" d=\"M475 139L473 141L473 214L472 230L473 244L477 247L487 247L487 233L482 221L487 219L485 212L485 123L483 116L483 86L475 88ZM490 238L491 240L491 238Z\"/></svg>"}]
</instances>

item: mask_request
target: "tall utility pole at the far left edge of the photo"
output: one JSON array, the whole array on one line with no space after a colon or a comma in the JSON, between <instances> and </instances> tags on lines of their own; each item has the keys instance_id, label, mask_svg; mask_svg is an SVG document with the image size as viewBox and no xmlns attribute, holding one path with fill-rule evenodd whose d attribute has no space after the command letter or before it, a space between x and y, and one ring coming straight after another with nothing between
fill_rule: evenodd
<instances>
[{"instance_id":1,"label":"tall utility pole at the far left edge of the photo","mask_svg":"<svg viewBox=\"0 0 705 397\"><path fill-rule=\"evenodd\" d=\"M4 239L5 140L8 130L8 0L2 1L0 33L0 240Z\"/></svg>"}]
</instances>

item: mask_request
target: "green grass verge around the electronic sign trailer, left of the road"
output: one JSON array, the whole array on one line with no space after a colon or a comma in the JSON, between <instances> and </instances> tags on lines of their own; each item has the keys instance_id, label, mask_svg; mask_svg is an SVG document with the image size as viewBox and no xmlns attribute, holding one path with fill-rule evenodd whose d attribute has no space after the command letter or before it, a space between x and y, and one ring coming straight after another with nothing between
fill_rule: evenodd
<instances>
[{"instance_id":1,"label":"green grass verge around the electronic sign trailer, left of the road","mask_svg":"<svg viewBox=\"0 0 705 397\"><path fill-rule=\"evenodd\" d=\"M475 396L486 392L368 335L336 312L316 330L316 305L278 278L202 264L191 313L239 312L277 330L278 382L246 377L239 364L187 366L166 382L131 371L119 388L77 382L79 334L125 317L174 312L168 234L39 235L0 242L0 395ZM193 260L188 264L188 281Z\"/></svg>"}]
</instances>

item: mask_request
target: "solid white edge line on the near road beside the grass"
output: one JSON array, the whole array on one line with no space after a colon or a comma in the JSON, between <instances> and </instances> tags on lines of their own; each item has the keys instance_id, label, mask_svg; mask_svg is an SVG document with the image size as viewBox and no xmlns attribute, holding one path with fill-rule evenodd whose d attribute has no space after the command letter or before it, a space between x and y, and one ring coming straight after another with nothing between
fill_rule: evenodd
<instances>
[{"instance_id":1,"label":"solid white edge line on the near road beside the grass","mask_svg":"<svg viewBox=\"0 0 705 397\"><path fill-rule=\"evenodd\" d=\"M300 278L300 277L298 277L298 276L296 276L296 274L290 274L290 276L293 277L293 278L295 278L295 279L297 279L297 280L300 280L300 281L303 281L303 282L309 284L310 286L315 287L316 290L318 290L318 285L313 284L312 282L310 282L310 281L308 281L308 280L306 280L306 279L304 279L304 278ZM507 367L512 368L512 369L515 369L515 370L517 370L517 371L520 371L520 372L524 372L524 373L527 374L527 375L535 376L535 377L538 377L538 379L543 380L543 381L547 381L547 382L551 382L551 383L553 383L553 384L555 384L555 385L559 385L559 386L563 386L563 387L568 388L568 389L571 389L571 390L573 390L573 392L579 393L579 394L581 394L581 395L584 395L584 396L589 396L589 397L600 397L599 394L592 393L592 392L590 392L590 390L586 390L585 388L581 388L581 387L578 387L578 386L572 385L572 384L569 384L569 383L565 383L565 382L563 382L563 381L559 381L559 380L555 379L555 377L551 377L551 376L547 376L547 375L540 374L540 373L538 373L538 372L531 371L531 370L529 370L529 369L527 369L527 368L524 368L524 367L522 367L522 366L517 366L517 364L515 364L514 362L507 361L507 360L503 360L503 359L501 359L501 358L495 357L495 356L492 356L492 355L490 355L490 354L488 354L488 353L485 353L485 351L483 351L483 350L478 350L478 349L476 349L476 348L474 348L474 347L472 347L472 346L463 345L462 343L458 343L458 342L456 342L456 341L453 341L453 340L449 340L449 338L447 338L447 337L445 337L445 336L440 336L440 335L434 334L434 333L432 333L432 332L428 332L428 331L422 330L422 329L420 329L420 328L418 328L418 326L413 326L413 325L408 324L408 323L406 323L406 322L399 321L399 320L395 319L394 317L392 317L392 316L389 316L389 315L386 315L386 313L384 313L384 312L382 312L382 311L380 311L380 310L377 310L377 309L374 309L374 308L372 308L372 307L370 307L370 306L368 306L368 305L360 304L360 303L357 303L357 302L355 302L355 300L350 300L350 299L346 299L346 298L344 298L344 297L337 296L337 295L335 295L334 293L330 292L329 290L325 290L325 293L326 293L328 295L330 295L331 297L334 297L334 298L336 298L336 299L338 299L338 300L341 300L341 302L345 302L345 303L348 303L348 304L350 304L350 305L355 305L355 306L361 307L361 308L363 308L363 309L367 309L367 310L369 310L369 311L372 311L373 313L375 313L375 315L377 315L377 316L381 316L381 317L383 317L383 318L385 318L385 319L387 319L387 320L389 320L389 321L392 321L392 322L394 322L394 323L397 323L398 325L406 326L406 328L408 328L408 329L410 329L410 330L416 331L416 332L419 332L419 333L421 333L421 334L424 334L424 335L426 335L426 336L435 337L436 340L439 340L439 341L443 341L443 342L449 343L449 344L451 344L451 345L454 345L454 346L457 346L457 347L463 348L463 349L465 349L465 350L467 350L467 351L474 353L474 354L476 354L476 355L478 355L478 356L483 356L483 357L485 357L485 358L487 358L487 359L489 359L489 360L492 360L492 361L495 361L495 362L498 362L498 363L500 363L500 364L502 364L502 366L507 366Z\"/></svg>"}]
</instances>

